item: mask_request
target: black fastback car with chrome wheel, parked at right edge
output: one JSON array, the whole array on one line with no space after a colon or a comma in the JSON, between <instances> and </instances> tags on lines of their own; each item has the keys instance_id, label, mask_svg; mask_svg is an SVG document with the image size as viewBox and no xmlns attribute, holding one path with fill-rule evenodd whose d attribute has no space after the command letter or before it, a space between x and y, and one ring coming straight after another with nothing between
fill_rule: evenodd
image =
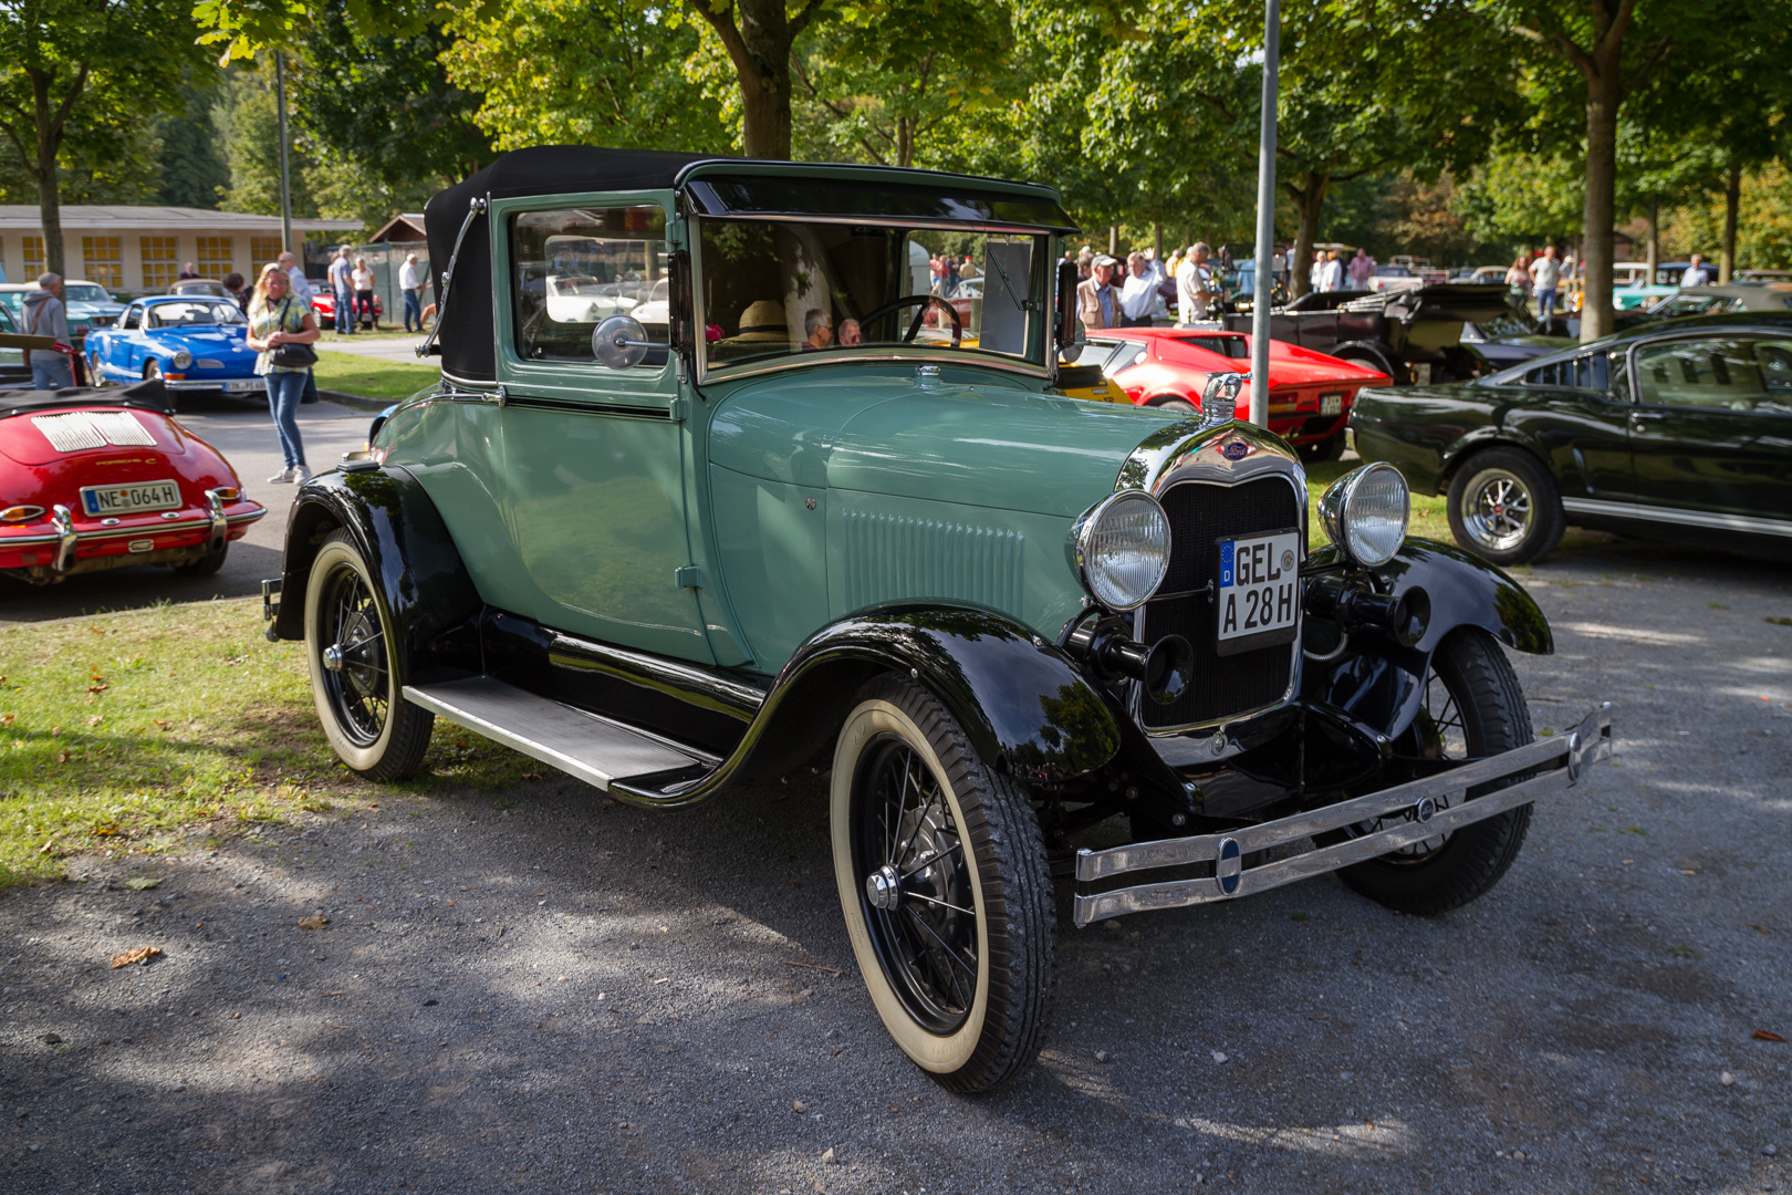
<instances>
[{"instance_id":1,"label":"black fastback car with chrome wheel, parked at right edge","mask_svg":"<svg viewBox=\"0 0 1792 1195\"><path fill-rule=\"evenodd\" d=\"M1532 561L1563 529L1792 552L1792 314L1650 322L1466 385L1369 389L1351 435L1457 543Z\"/></svg>"}]
</instances>

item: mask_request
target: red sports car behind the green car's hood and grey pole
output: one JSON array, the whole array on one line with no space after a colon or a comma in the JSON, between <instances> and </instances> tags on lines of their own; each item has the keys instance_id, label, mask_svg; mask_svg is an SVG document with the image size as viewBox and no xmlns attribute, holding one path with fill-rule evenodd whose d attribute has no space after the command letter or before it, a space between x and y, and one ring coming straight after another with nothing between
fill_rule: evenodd
<instances>
[{"instance_id":1,"label":"red sports car behind the green car's hood and grey pole","mask_svg":"<svg viewBox=\"0 0 1792 1195\"><path fill-rule=\"evenodd\" d=\"M1100 365L1104 383L1066 389L1073 398L1122 401L1125 396L1140 407L1199 410L1210 376L1251 371L1251 337L1190 328L1113 328L1091 333L1090 349L1077 364ZM1385 373L1367 365L1271 340L1269 430L1308 460L1337 460L1344 453L1344 425L1357 391L1387 382ZM1240 412L1249 401L1251 382L1245 380L1238 392Z\"/></svg>"}]
</instances>

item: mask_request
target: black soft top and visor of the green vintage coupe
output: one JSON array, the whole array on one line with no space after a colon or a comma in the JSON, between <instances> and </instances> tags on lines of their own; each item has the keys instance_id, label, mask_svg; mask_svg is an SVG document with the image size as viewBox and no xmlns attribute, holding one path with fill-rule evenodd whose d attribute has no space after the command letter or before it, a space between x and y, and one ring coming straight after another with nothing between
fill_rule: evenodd
<instances>
[{"instance_id":1,"label":"black soft top and visor of the green vintage coupe","mask_svg":"<svg viewBox=\"0 0 1792 1195\"><path fill-rule=\"evenodd\" d=\"M437 271L441 303L435 342L443 373L459 382L495 382L491 229L484 220L468 228L453 281L441 274L453 256L455 236L475 199L518 195L577 195L584 192L672 190L685 186L697 211L708 215L803 213L894 215L928 222L984 222L1073 229L1052 190L978 179L962 174L894 170L887 167L814 167L823 163L763 161L719 154L681 154L659 149L600 149L595 145L538 145L500 156L489 167L437 192L423 208L430 263ZM694 167L704 167L692 179ZM805 168L808 167L808 168ZM688 181L690 179L690 181Z\"/></svg>"}]
</instances>

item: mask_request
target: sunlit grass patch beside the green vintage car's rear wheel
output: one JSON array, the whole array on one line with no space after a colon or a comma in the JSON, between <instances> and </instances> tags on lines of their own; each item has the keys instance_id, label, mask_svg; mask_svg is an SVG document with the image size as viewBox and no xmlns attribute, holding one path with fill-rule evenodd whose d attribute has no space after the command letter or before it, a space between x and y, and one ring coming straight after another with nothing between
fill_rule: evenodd
<instances>
[{"instance_id":1,"label":"sunlit grass patch beside the green vintage car's rear wheel","mask_svg":"<svg viewBox=\"0 0 1792 1195\"><path fill-rule=\"evenodd\" d=\"M0 627L0 887L75 855L154 873L294 808L348 815L392 787L337 763L299 643L258 602L199 602ZM407 792L509 788L534 760L437 722ZM500 797L502 801L502 797Z\"/></svg>"}]
</instances>

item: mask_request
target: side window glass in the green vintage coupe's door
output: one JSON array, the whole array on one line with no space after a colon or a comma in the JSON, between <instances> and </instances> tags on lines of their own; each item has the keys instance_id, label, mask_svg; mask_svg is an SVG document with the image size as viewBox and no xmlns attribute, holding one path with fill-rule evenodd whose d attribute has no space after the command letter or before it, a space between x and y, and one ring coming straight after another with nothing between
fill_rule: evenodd
<instances>
[{"instance_id":1,"label":"side window glass in the green vintage coupe's door","mask_svg":"<svg viewBox=\"0 0 1792 1195\"><path fill-rule=\"evenodd\" d=\"M523 360L590 362L591 331L611 315L633 315L654 344L667 344L665 211L659 208L561 208L511 220L511 310ZM642 369L667 364L647 351Z\"/></svg>"}]
</instances>

